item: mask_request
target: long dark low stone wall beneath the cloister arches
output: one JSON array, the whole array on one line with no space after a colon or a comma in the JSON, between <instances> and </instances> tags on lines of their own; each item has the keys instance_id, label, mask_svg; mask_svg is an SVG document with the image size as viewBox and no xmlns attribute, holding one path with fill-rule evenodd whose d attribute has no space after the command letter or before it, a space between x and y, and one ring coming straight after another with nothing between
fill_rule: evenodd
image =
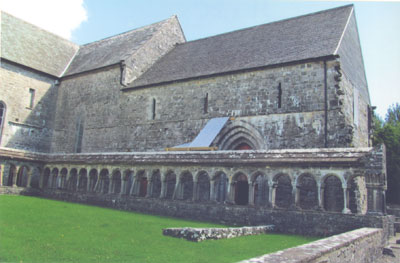
<instances>
[{"instance_id":1,"label":"long dark low stone wall beneath the cloister arches","mask_svg":"<svg viewBox=\"0 0 400 263\"><path fill-rule=\"evenodd\" d=\"M393 216L376 214L357 215L323 211L269 209L257 206L227 205L213 202L196 203L62 190L42 190L23 194L231 226L275 225L274 232L285 234L324 237L361 227L382 228L382 244L386 243L390 235L394 235Z\"/></svg>"}]
</instances>

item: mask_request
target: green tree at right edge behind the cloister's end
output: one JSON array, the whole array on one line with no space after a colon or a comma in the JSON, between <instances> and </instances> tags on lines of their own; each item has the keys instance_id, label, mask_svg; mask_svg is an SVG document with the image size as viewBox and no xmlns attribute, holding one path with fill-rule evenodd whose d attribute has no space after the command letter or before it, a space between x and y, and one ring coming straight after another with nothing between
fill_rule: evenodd
<instances>
[{"instance_id":1,"label":"green tree at right edge behind the cloister's end","mask_svg":"<svg viewBox=\"0 0 400 263\"><path fill-rule=\"evenodd\" d=\"M400 104L389 107L382 121L374 116L374 145L386 146L387 201L400 204Z\"/></svg>"}]
</instances>

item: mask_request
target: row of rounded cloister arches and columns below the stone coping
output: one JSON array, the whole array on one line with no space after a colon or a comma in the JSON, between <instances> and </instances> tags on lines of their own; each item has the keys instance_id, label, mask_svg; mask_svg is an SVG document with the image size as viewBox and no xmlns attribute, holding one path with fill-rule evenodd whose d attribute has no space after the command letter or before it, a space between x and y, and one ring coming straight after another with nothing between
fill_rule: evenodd
<instances>
[{"instance_id":1,"label":"row of rounded cloister arches and columns below the stone coping","mask_svg":"<svg viewBox=\"0 0 400 263\"><path fill-rule=\"evenodd\" d=\"M277 209L366 212L366 204L360 203L366 198L360 198L359 191L365 188L364 178L340 171L45 166L39 185L38 178L32 180L31 176L32 170L38 168L20 166L17 169L10 164L8 169L8 178L6 182L3 180L8 186Z\"/></svg>"}]
</instances>

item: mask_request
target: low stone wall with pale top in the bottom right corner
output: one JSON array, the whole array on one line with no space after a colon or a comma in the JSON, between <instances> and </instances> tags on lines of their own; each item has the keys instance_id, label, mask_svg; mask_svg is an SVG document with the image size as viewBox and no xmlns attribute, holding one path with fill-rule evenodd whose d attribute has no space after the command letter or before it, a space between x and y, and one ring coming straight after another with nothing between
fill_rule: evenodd
<instances>
[{"instance_id":1,"label":"low stone wall with pale top in the bottom right corner","mask_svg":"<svg viewBox=\"0 0 400 263\"><path fill-rule=\"evenodd\" d=\"M382 255L382 232L382 229L361 228L242 263L376 262Z\"/></svg>"}]
</instances>

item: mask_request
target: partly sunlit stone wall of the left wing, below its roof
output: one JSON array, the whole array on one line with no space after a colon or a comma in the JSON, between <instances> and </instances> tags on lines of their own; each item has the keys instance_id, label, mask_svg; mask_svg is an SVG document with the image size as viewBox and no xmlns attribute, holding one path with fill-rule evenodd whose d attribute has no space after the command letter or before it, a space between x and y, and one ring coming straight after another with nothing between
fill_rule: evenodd
<instances>
[{"instance_id":1,"label":"partly sunlit stone wall of the left wing, below its roof","mask_svg":"<svg viewBox=\"0 0 400 263\"><path fill-rule=\"evenodd\" d=\"M0 89L0 101L6 105L0 146L49 152L57 99L55 78L2 60Z\"/></svg>"}]
</instances>

